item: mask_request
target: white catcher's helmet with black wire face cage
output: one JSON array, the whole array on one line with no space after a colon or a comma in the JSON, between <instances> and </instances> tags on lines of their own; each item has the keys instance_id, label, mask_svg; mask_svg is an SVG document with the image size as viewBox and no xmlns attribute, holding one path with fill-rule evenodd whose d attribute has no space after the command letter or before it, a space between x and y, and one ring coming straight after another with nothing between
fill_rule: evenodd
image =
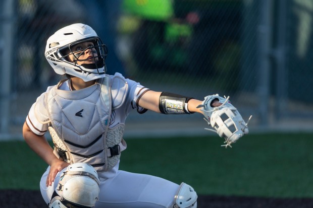
<instances>
[{"instance_id":1,"label":"white catcher's helmet with black wire face cage","mask_svg":"<svg viewBox=\"0 0 313 208\"><path fill-rule=\"evenodd\" d=\"M73 45L87 41L93 42L94 46L81 51L72 51ZM79 59L79 56L87 49L96 50L97 55L95 56L93 53L92 57L95 63L77 64L77 60L86 60ZM71 54L75 56L76 61L74 63L67 58ZM103 45L96 32L90 26L81 23L66 26L51 35L47 40L44 53L47 61L57 74L72 75L81 78L85 82L106 76L105 59L107 54L108 48Z\"/></svg>"}]
</instances>

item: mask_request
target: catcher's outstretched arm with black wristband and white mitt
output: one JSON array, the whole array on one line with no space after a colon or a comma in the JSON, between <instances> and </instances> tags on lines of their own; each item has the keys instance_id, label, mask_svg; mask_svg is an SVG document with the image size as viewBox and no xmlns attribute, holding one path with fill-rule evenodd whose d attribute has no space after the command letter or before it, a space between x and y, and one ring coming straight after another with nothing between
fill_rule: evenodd
<instances>
[{"instance_id":1,"label":"catcher's outstretched arm with black wristband and white mitt","mask_svg":"<svg viewBox=\"0 0 313 208\"><path fill-rule=\"evenodd\" d=\"M167 92L148 91L138 102L139 106L164 114L201 113L207 124L205 128L214 131L225 138L225 146L232 147L248 131L248 122L242 119L238 110L230 103L229 97L220 97L218 94L209 95L203 101Z\"/></svg>"}]
</instances>

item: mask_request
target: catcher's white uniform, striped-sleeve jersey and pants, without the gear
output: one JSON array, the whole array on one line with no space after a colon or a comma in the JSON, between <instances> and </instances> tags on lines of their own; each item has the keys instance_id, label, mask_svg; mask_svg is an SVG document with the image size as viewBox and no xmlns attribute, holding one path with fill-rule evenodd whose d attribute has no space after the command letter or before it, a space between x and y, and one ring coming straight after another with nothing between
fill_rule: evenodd
<instances>
[{"instance_id":1,"label":"catcher's white uniform, striped-sleeve jersey and pants, without the gear","mask_svg":"<svg viewBox=\"0 0 313 208\"><path fill-rule=\"evenodd\" d=\"M111 80L114 78L114 76L108 76ZM119 104L119 108L112 111L109 122L110 128L125 123L126 117L131 110L137 109L138 112L144 110L138 107L136 102L140 95L148 89L132 80L126 79L126 82L128 83L126 99L123 100L121 105ZM71 91L70 86L69 81L66 81L59 86L59 90ZM45 93L54 87L48 87ZM38 112L35 112L35 105L36 103L32 105L29 111L26 124L33 133L43 135L48 130L49 124L42 123L42 121L40 122L37 119L36 113ZM115 105L114 99L112 105ZM58 181L63 171L57 174L52 186L46 187L45 182L48 172L49 167L42 175L40 181L41 194L46 203L50 201L55 188L58 186ZM159 177L121 171L119 170L119 161L112 169L105 172L99 171L98 176L100 179L100 194L99 200L95 204L95 207L98 208L167 208L175 202L174 196L179 189L178 184Z\"/></svg>"}]
</instances>

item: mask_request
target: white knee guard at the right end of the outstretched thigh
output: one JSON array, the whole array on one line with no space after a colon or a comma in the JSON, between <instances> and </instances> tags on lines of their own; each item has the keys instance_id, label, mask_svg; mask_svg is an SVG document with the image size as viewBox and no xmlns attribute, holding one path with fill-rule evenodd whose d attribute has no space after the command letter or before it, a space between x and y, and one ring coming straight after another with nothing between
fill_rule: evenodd
<instances>
[{"instance_id":1,"label":"white knee guard at the right end of the outstretched thigh","mask_svg":"<svg viewBox=\"0 0 313 208\"><path fill-rule=\"evenodd\" d=\"M181 183L175 195L173 208L197 208L197 198L197 193L190 185Z\"/></svg>"}]
</instances>

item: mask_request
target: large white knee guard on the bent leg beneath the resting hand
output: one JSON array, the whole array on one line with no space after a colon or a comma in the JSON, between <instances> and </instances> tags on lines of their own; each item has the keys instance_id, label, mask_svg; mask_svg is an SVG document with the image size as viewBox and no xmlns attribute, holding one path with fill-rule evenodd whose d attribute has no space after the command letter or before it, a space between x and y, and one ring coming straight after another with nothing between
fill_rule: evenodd
<instances>
[{"instance_id":1,"label":"large white knee guard on the bent leg beneath the resting hand","mask_svg":"<svg viewBox=\"0 0 313 208\"><path fill-rule=\"evenodd\" d=\"M93 207L98 200L99 183L98 174L91 165L73 163L61 175L49 207Z\"/></svg>"}]
</instances>

